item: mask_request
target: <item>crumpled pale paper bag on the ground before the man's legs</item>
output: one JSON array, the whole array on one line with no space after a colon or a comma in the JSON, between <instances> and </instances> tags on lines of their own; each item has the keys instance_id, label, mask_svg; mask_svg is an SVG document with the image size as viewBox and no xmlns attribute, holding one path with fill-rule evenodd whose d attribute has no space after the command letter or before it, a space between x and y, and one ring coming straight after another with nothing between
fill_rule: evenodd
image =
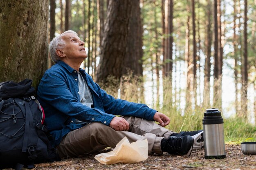
<instances>
[{"instance_id":1,"label":"crumpled pale paper bag on the ground before the man's legs","mask_svg":"<svg viewBox=\"0 0 256 170\"><path fill-rule=\"evenodd\" d=\"M148 140L135 141L130 144L127 137L124 137L114 150L98 154L94 158L105 165L145 161L148 158Z\"/></svg>"}]
</instances>

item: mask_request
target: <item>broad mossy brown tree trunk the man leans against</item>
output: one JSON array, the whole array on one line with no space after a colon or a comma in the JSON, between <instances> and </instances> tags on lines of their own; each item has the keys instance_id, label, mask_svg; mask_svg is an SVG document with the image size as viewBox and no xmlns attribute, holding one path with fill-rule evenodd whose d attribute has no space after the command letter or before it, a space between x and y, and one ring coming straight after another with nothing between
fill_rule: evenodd
<instances>
[{"instance_id":1,"label":"broad mossy brown tree trunk the man leans against","mask_svg":"<svg viewBox=\"0 0 256 170\"><path fill-rule=\"evenodd\" d=\"M48 8L48 0L0 1L0 82L29 78L37 88L47 69Z\"/></svg>"}]
</instances>

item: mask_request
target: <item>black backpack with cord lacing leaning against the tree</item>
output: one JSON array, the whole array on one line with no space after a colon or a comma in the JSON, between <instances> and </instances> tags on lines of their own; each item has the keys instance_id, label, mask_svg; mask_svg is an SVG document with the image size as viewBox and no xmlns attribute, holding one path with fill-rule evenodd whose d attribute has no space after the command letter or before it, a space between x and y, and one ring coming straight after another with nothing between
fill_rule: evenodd
<instances>
[{"instance_id":1,"label":"black backpack with cord lacing leaning against the tree","mask_svg":"<svg viewBox=\"0 0 256 170\"><path fill-rule=\"evenodd\" d=\"M34 163L58 160L31 84L30 79L0 83L0 169L31 169Z\"/></svg>"}]
</instances>

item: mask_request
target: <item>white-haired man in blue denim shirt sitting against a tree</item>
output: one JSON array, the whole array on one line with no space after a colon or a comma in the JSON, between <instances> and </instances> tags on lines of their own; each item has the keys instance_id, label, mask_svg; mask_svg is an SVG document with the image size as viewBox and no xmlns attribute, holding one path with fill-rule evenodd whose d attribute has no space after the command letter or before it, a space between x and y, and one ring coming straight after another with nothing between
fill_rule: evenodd
<instances>
[{"instance_id":1,"label":"white-haired man in blue denim shirt sitting against a tree","mask_svg":"<svg viewBox=\"0 0 256 170\"><path fill-rule=\"evenodd\" d=\"M52 145L62 159L115 148L124 137L130 142L147 139L148 154L190 155L193 148L203 148L202 130L175 133L164 128L170 119L163 113L103 91L79 68L87 57L84 44L74 31L56 36L49 45L55 65L38 86Z\"/></svg>"}]
</instances>

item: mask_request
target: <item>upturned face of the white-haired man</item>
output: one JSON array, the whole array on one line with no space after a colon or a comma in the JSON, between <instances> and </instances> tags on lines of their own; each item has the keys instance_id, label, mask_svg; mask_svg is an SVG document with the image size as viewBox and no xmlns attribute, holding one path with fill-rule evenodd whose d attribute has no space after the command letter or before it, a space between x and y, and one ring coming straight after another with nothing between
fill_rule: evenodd
<instances>
[{"instance_id":1,"label":"upturned face of the white-haired man","mask_svg":"<svg viewBox=\"0 0 256 170\"><path fill-rule=\"evenodd\" d=\"M66 42L62 51L69 59L85 59L87 57L84 42L74 33L65 33L63 40Z\"/></svg>"}]
</instances>

